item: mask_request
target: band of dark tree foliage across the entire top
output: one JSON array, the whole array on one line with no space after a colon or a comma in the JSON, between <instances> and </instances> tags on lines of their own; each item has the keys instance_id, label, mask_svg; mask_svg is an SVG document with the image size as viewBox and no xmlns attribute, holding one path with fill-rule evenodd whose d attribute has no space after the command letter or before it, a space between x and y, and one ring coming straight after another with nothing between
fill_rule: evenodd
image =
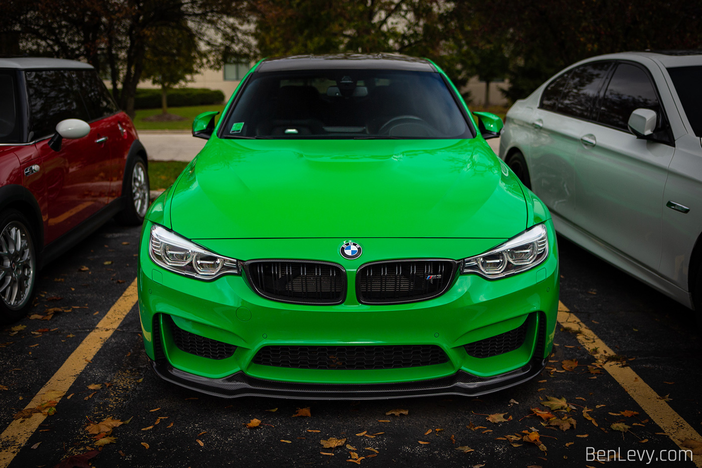
<instances>
[{"instance_id":1,"label":"band of dark tree foliage across the entire top","mask_svg":"<svg viewBox=\"0 0 702 468\"><path fill-rule=\"evenodd\" d=\"M590 56L702 47L702 4L689 0L23 0L3 13L0 40L16 41L6 50L88 61L131 114L140 79L166 65L187 74L197 58L406 53L435 61L459 89L506 77L515 100ZM197 50L169 45L178 34ZM174 60L154 72L165 55Z\"/></svg>"}]
</instances>

